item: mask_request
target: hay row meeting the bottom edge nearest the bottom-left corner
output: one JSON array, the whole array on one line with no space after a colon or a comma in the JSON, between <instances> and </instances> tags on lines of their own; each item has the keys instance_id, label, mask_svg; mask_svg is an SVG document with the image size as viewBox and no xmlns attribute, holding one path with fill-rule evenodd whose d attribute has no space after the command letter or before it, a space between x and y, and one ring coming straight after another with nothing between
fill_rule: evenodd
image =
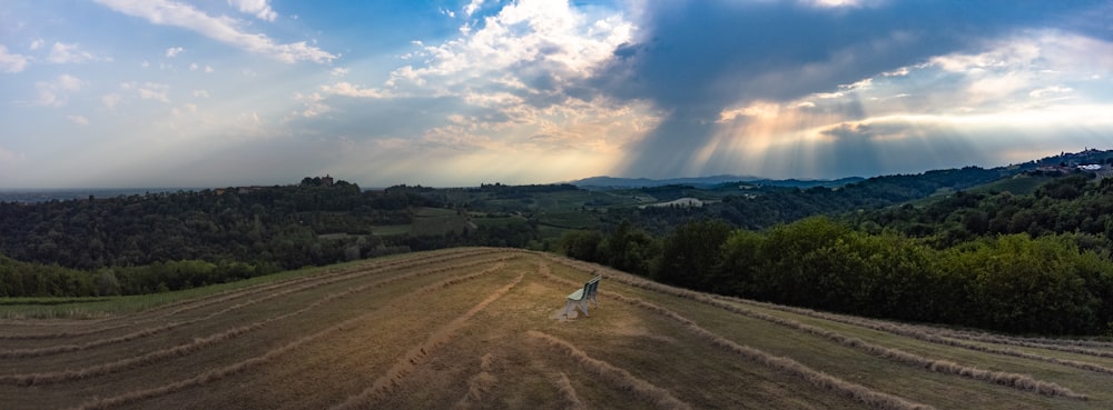
<instances>
[{"instance_id":1,"label":"hay row meeting the bottom edge nearest the bottom-left corner","mask_svg":"<svg viewBox=\"0 0 1113 410\"><path fill-rule=\"evenodd\" d=\"M415 290L413 292L410 292L410 293L406 293L404 296L401 296L398 298L393 299L391 302L384 304L384 307L391 306L391 304L393 304L395 302L400 302L400 301L403 301L403 300L413 299L413 298L417 298L417 297L423 297L423 296L425 296L427 293L431 293L433 291L437 291L437 290L441 290L441 289L444 289L444 288L447 288L447 287L451 287L451 286L454 286L454 284L459 284L459 283L462 283L462 282L465 282L465 281L479 278L481 276L484 276L484 274L487 274L487 273L491 273L491 272L495 272L495 271L502 269L504 266L505 266L504 263L500 263L498 266L494 266L492 268L485 269L485 270L476 272L476 273L472 273L472 274L467 274L467 276L463 276L463 277L450 278L450 279L445 279L445 280L442 280L440 282L430 284L430 286L425 286L425 287L423 287L421 289L417 289L417 290ZM373 311L370 311L367 313L361 314L358 317L345 320L344 322L341 322L341 323L338 323L336 326L331 326L327 329L324 329L324 330L318 331L316 333L305 336L305 337L303 337L301 339L297 339L297 340L292 341L289 343L283 344L282 347L268 350L267 352L263 353L262 356L249 358L249 359L246 359L246 360L233 363L233 364L228 364L228 366L225 366L225 367L221 367L221 368L213 369L213 370L206 371L206 372L204 372L201 374L195 376L193 378L180 380L180 381L176 381L176 382L173 382L173 383L169 383L169 384L165 384L165 386L161 386L161 387L130 391L130 392L126 392L126 393L118 394L118 396L115 396L115 397L109 397L109 398L93 398L93 399L91 399L89 401L86 401L85 403L79 404L78 407L76 407L73 409L75 410L110 409L110 408L114 408L114 407L120 407L120 406L126 406L126 404L130 404L130 403L136 403L136 402L139 402L139 401L142 401L142 400L148 400L148 399L152 399L152 398L156 398L156 397L175 393L175 392L178 392L178 391L181 391L181 390L185 390L185 389L189 389L189 388L194 388L194 387L199 387L199 386L204 386L204 384L207 384L207 383L211 383L214 381L221 380L221 379L227 378L229 376L235 376L235 374L242 373L244 371L247 371L247 370L250 370L250 369L264 366L264 364L266 364L266 363L268 363L270 361L274 361L275 359L282 357L283 354L289 352L290 350L294 350L294 349L296 349L298 347L302 347L302 346L307 344L309 342L313 342L313 341L316 341L316 340L322 339L324 337L327 337L327 336L332 334L333 332L339 331L339 330L345 329L345 328L353 328L357 323L363 322L363 321L365 321L365 320L367 320L367 319L370 319L372 317L375 317L375 316L380 314L383 309L385 309L385 308L375 309Z\"/></svg>"}]
</instances>

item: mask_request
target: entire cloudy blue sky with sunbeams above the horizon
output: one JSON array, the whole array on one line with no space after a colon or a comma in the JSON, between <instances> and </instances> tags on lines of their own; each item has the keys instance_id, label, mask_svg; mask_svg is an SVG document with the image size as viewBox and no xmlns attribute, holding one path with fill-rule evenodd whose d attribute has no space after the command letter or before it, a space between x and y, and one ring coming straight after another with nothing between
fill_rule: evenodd
<instances>
[{"instance_id":1,"label":"entire cloudy blue sky with sunbeams above the horizon","mask_svg":"<svg viewBox=\"0 0 1113 410\"><path fill-rule=\"evenodd\" d=\"M4 0L0 188L835 179L1113 149L1113 1Z\"/></svg>"}]
</instances>

